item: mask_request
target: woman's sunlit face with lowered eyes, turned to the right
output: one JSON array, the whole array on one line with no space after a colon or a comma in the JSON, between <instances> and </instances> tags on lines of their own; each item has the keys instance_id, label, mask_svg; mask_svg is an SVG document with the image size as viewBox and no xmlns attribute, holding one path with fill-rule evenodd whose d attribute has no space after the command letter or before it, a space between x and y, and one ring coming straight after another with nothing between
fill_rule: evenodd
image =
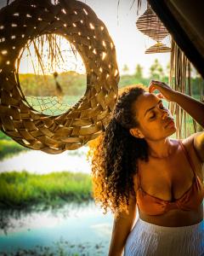
<instances>
[{"instance_id":1,"label":"woman's sunlit face with lowered eyes, turned to the right","mask_svg":"<svg viewBox=\"0 0 204 256\"><path fill-rule=\"evenodd\" d=\"M139 127L135 128L134 133L136 137L140 135L141 138L155 141L168 137L176 131L172 114L163 106L161 99L154 94L144 92L133 103L133 109L139 121Z\"/></svg>"}]
</instances>

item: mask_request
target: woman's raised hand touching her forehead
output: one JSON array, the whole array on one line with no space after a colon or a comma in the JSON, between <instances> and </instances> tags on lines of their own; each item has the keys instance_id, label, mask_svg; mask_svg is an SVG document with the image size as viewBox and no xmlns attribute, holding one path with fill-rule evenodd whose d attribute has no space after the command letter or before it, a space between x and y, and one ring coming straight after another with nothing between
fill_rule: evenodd
<instances>
[{"instance_id":1,"label":"woman's raised hand touching her forehead","mask_svg":"<svg viewBox=\"0 0 204 256\"><path fill-rule=\"evenodd\" d=\"M173 96L176 91L169 87L167 84L160 81L151 80L149 85L149 92L152 93L154 90L159 90L160 93L156 94L159 98L165 99L168 102L173 102Z\"/></svg>"}]
</instances>

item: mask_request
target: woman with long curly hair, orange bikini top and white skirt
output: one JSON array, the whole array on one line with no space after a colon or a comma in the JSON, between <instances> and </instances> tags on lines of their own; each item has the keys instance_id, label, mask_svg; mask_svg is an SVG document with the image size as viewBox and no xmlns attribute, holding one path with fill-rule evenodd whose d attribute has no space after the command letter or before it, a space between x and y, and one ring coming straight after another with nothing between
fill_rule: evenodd
<instances>
[{"instance_id":1,"label":"woman with long curly hair, orange bikini top and white skirt","mask_svg":"<svg viewBox=\"0 0 204 256\"><path fill-rule=\"evenodd\" d=\"M115 214L109 256L204 255L204 132L169 138L176 127L161 98L204 127L204 104L159 81L118 97L92 167L94 199Z\"/></svg>"}]
</instances>

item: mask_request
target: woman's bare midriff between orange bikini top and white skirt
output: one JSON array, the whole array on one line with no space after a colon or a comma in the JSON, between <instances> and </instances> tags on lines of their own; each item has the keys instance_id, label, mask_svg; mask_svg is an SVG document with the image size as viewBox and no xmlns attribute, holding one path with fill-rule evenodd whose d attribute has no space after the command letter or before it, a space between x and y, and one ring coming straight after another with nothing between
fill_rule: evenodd
<instances>
[{"instance_id":1,"label":"woman's bare midriff between orange bikini top and white skirt","mask_svg":"<svg viewBox=\"0 0 204 256\"><path fill-rule=\"evenodd\" d=\"M203 219L203 206L197 211L182 211L173 209L161 215L147 215L139 211L139 218L150 224L156 224L165 227L182 227L198 224Z\"/></svg>"}]
</instances>

